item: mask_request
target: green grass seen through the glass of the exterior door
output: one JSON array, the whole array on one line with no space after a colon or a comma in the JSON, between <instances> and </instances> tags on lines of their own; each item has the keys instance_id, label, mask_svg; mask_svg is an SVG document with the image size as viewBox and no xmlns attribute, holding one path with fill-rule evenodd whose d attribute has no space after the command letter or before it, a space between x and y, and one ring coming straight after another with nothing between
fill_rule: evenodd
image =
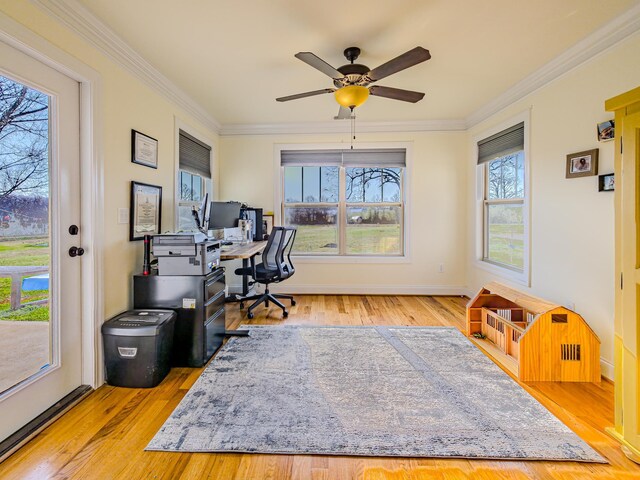
<instances>
[{"instance_id":1,"label":"green grass seen through the glass of the exterior door","mask_svg":"<svg viewBox=\"0 0 640 480\"><path fill-rule=\"evenodd\" d=\"M21 240L0 240L0 266L49 265L49 245L47 237ZM48 290L22 292L22 303L43 300L49 296ZM48 321L48 305L27 305L18 310L10 310L11 279L0 278L0 320Z\"/></svg>"}]
</instances>

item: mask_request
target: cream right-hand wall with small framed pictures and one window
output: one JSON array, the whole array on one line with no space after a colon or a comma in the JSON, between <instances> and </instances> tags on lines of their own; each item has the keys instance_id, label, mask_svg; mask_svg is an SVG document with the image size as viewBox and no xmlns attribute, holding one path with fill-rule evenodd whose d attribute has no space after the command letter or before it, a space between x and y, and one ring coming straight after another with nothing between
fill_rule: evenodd
<instances>
[{"instance_id":1,"label":"cream right-hand wall with small framed pictures and one window","mask_svg":"<svg viewBox=\"0 0 640 480\"><path fill-rule=\"evenodd\" d=\"M598 172L613 172L613 142L598 142L596 124L613 118L604 101L640 85L640 35L504 109L469 131L468 189L476 187L476 147L482 132L530 109L531 286L515 287L563 305L575 305L602 341L603 373L613 364L613 194L598 192L598 177L565 179L566 155L600 149ZM474 254L475 197L470 195L469 292L491 280Z\"/></svg>"}]
</instances>

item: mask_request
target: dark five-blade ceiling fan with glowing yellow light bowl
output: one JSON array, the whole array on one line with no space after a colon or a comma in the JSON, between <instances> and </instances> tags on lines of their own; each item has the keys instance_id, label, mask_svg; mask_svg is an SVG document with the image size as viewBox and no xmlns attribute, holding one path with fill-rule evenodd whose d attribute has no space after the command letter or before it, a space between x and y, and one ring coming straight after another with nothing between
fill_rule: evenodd
<instances>
[{"instance_id":1,"label":"dark five-blade ceiling fan with glowing yellow light bowl","mask_svg":"<svg viewBox=\"0 0 640 480\"><path fill-rule=\"evenodd\" d=\"M351 63L334 68L320 57L311 52L299 52L295 57L303 62L311 65L313 68L320 70L325 75L333 79L335 88L324 88L322 90L314 90L312 92L298 93L286 97L276 98L278 102L288 102L289 100L297 100L298 98L312 97L314 95L322 95L323 93L334 93L336 101L340 104L340 111L336 119L351 118L353 109L362 105L369 95L376 97L386 97L393 100L401 100L403 102L416 103L422 100L424 93L413 92L411 90L402 90L400 88L383 87L381 85L371 85L378 80L388 77L406 68L413 67L418 63L422 63L431 58L429 50L416 47L402 55L383 63L373 70L366 65L353 63L360 55L358 47L349 47L344 51L344 56Z\"/></svg>"}]
</instances>

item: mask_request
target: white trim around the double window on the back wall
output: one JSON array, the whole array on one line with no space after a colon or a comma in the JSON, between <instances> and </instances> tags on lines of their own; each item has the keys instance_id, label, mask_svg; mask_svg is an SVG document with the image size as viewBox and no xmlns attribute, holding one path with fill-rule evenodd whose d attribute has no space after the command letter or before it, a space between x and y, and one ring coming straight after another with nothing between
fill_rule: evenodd
<instances>
[{"instance_id":1,"label":"white trim around the double window on the back wall","mask_svg":"<svg viewBox=\"0 0 640 480\"><path fill-rule=\"evenodd\" d=\"M281 152L283 150L340 150L344 149L344 143L305 143L305 144L274 144L273 151L273 171L276 179L273 189L274 222L276 225L282 225L283 214L283 194L284 194L284 168L280 164ZM411 262L411 169L413 164L413 142L367 142L359 143L357 149L384 149L384 148L402 148L405 150L405 167L403 172L402 200L404 208L401 212L403 222L402 251L401 255L372 255L372 254L311 254L311 255L295 255L298 263L410 263ZM350 165L351 167L352 165ZM343 169L340 169L340 175L343 175ZM342 180L341 180L342 181ZM344 183L342 183L344 184ZM346 192L340 189L340 200L346 196ZM346 198L343 202L346 205ZM316 205L305 204L305 206ZM334 205L334 204L327 204ZM394 204L395 205L395 204ZM345 207L346 208L346 207ZM341 221L341 215L346 215L346 210L341 212L340 202L338 202L338 221ZM346 229L342 229L346 235ZM342 240L342 239L341 239ZM346 239L345 239L346 240ZM341 241L341 245L345 242Z\"/></svg>"}]
</instances>

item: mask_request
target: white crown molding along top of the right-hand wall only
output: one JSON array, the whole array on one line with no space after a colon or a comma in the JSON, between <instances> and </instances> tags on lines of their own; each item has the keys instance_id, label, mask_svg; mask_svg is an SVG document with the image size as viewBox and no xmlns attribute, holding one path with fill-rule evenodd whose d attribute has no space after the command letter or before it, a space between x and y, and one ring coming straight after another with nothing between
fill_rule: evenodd
<instances>
[{"instance_id":1,"label":"white crown molding along top of the right-hand wall only","mask_svg":"<svg viewBox=\"0 0 640 480\"><path fill-rule=\"evenodd\" d=\"M467 117L466 126L471 128L500 110L521 100L556 78L592 60L597 55L640 30L640 5L630 8L611 20L574 46L565 50L549 63L516 83L498 97Z\"/></svg>"}]
</instances>

